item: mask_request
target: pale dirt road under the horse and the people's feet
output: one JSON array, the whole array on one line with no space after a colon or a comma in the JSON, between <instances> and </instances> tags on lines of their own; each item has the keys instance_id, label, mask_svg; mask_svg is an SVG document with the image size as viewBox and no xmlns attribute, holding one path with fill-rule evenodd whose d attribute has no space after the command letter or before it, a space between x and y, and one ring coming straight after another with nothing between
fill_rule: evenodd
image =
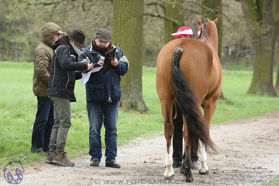
<instances>
[{"instance_id":1,"label":"pale dirt road under the horse and the people's feet","mask_svg":"<svg viewBox=\"0 0 279 186\"><path fill-rule=\"evenodd\" d=\"M208 156L209 175L192 170L194 183L183 182L179 168L174 180L163 179L166 141L155 136L119 146L120 169L105 167L105 158L99 167L89 166L90 156L85 155L73 160L75 167L24 167L18 185L253 185L279 175L279 113L212 126L210 134L218 153ZM10 185L0 178L0 185Z\"/></svg>"}]
</instances>

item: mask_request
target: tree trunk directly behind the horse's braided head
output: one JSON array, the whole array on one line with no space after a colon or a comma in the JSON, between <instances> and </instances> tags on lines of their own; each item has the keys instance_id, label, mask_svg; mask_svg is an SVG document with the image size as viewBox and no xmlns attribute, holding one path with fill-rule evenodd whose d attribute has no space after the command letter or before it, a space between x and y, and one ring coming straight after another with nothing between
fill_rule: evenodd
<instances>
[{"instance_id":1,"label":"tree trunk directly behind the horse's braided head","mask_svg":"<svg viewBox=\"0 0 279 186\"><path fill-rule=\"evenodd\" d=\"M226 67L226 65L223 65L222 61L222 38L223 38L223 17L222 17L222 1L221 0L215 0L214 3L212 3L212 0L202 0L202 5L206 6L208 8L211 8L213 11L210 11L208 9L203 8L203 16L209 18L211 21L216 19L219 14L220 17L218 19L217 23L217 33L218 33L218 57L222 65Z\"/></svg>"}]
</instances>

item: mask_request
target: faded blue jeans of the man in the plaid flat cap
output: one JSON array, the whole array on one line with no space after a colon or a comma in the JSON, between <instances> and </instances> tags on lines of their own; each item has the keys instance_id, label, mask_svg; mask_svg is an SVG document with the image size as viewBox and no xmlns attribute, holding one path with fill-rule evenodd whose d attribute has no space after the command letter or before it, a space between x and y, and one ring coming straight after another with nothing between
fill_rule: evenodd
<instances>
[{"instance_id":1,"label":"faded blue jeans of the man in the plaid flat cap","mask_svg":"<svg viewBox=\"0 0 279 186\"><path fill-rule=\"evenodd\" d=\"M117 155L118 102L87 102L89 119L89 155L91 160L101 161L101 128L105 127L105 163L115 161Z\"/></svg>"}]
</instances>

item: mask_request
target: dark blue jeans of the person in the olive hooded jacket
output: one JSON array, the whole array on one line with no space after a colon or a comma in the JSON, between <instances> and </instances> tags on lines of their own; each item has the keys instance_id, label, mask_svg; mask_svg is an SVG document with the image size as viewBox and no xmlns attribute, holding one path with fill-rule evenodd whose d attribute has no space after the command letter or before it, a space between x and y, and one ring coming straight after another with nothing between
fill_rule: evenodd
<instances>
[{"instance_id":1,"label":"dark blue jeans of the person in the olive hooded jacket","mask_svg":"<svg viewBox=\"0 0 279 186\"><path fill-rule=\"evenodd\" d=\"M37 114L33 126L31 151L49 151L49 140L54 124L53 104L48 97L37 97Z\"/></svg>"}]
</instances>

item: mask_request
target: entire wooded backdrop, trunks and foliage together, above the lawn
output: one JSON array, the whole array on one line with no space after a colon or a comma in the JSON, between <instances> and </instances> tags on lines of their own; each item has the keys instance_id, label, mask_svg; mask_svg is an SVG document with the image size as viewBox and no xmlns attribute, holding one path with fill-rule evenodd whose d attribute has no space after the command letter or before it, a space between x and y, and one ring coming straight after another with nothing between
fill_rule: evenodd
<instances>
[{"instance_id":1,"label":"entire wooded backdrop, trunks and foliage together, above the lawn","mask_svg":"<svg viewBox=\"0 0 279 186\"><path fill-rule=\"evenodd\" d=\"M53 0L0 1L1 61L33 61L46 22L62 31L83 30L90 44L98 28L112 32L112 43L130 62L121 81L125 110L146 112L142 98L142 65L155 67L160 49L175 39L170 34L189 26L196 37L195 15L218 24L218 55L223 69L253 69L248 93L277 97L279 90L279 1L276 0ZM231 65L235 64L235 65ZM273 71L277 71L275 86ZM222 98L225 97L222 94Z\"/></svg>"}]
</instances>

